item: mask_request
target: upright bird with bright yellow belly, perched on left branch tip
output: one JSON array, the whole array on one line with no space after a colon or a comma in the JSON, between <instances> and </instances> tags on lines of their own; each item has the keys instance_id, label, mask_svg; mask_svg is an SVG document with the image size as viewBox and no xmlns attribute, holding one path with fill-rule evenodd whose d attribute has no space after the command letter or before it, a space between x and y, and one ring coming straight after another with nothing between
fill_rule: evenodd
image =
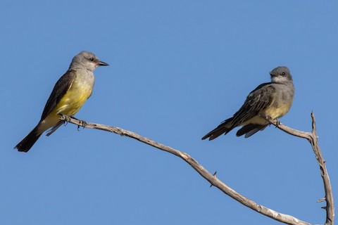
<instances>
[{"instance_id":1,"label":"upright bird with bright yellow belly, perched on left branch tip","mask_svg":"<svg viewBox=\"0 0 338 225\"><path fill-rule=\"evenodd\" d=\"M74 56L68 70L58 79L51 91L41 120L14 148L27 153L44 131L49 129L46 134L49 136L63 124L63 121L60 120L61 115L73 117L92 95L94 70L105 65L108 63L102 62L89 51L81 51Z\"/></svg>"}]
</instances>

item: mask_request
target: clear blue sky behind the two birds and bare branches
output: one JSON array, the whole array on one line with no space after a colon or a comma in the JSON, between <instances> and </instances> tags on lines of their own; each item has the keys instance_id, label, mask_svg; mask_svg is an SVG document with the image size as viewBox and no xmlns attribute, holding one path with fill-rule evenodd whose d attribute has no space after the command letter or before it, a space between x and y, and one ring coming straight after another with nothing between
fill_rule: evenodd
<instances>
[{"instance_id":1,"label":"clear blue sky behind the two birds and bare branches","mask_svg":"<svg viewBox=\"0 0 338 225\"><path fill-rule=\"evenodd\" d=\"M0 224L279 224L240 205L173 155L73 124L13 147L35 127L82 50L95 71L76 117L189 153L256 203L324 223L308 142L268 127L201 141L286 65L296 86L282 123L311 130L338 195L337 1L9 1L0 7Z\"/></svg>"}]
</instances>

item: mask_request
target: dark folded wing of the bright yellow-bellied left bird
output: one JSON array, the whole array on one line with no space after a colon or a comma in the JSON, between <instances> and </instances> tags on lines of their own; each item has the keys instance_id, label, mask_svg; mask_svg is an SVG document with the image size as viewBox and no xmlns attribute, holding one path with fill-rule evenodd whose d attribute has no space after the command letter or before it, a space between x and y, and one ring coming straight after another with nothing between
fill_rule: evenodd
<instances>
[{"instance_id":1,"label":"dark folded wing of the bright yellow-bellied left bird","mask_svg":"<svg viewBox=\"0 0 338 225\"><path fill-rule=\"evenodd\" d=\"M70 86L72 86L75 76L75 70L68 70L62 77L60 77L60 79L58 79L58 82L56 82L54 89L51 91L51 95L44 106L44 112L42 113L41 120L46 119L49 113L54 110L61 98L70 89Z\"/></svg>"}]
</instances>

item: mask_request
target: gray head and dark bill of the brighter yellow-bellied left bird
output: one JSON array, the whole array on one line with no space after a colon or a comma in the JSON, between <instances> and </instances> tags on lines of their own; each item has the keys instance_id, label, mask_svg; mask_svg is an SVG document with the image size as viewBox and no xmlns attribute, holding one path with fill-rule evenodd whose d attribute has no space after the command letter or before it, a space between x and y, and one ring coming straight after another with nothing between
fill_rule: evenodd
<instances>
[{"instance_id":1,"label":"gray head and dark bill of the brighter yellow-bellied left bird","mask_svg":"<svg viewBox=\"0 0 338 225\"><path fill-rule=\"evenodd\" d=\"M95 68L100 65L109 65L99 60L93 53L89 51L81 51L76 56L74 56L72 63L70 63L70 69L85 69L89 71L94 71Z\"/></svg>"}]
</instances>

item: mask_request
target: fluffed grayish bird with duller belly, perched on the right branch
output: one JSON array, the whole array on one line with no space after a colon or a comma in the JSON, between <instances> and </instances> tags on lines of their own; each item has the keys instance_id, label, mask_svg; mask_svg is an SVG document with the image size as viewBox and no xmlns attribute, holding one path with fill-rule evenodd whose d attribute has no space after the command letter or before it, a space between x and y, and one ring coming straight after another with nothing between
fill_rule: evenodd
<instances>
[{"instance_id":1,"label":"fluffed grayish bird with duller belly, perched on the right branch","mask_svg":"<svg viewBox=\"0 0 338 225\"><path fill-rule=\"evenodd\" d=\"M242 126L236 136L245 138L263 131L270 124L266 119L277 120L287 114L294 101L294 83L289 68L279 66L270 72L271 82L261 84L246 97L241 108L218 127L202 137L209 141Z\"/></svg>"}]
</instances>

